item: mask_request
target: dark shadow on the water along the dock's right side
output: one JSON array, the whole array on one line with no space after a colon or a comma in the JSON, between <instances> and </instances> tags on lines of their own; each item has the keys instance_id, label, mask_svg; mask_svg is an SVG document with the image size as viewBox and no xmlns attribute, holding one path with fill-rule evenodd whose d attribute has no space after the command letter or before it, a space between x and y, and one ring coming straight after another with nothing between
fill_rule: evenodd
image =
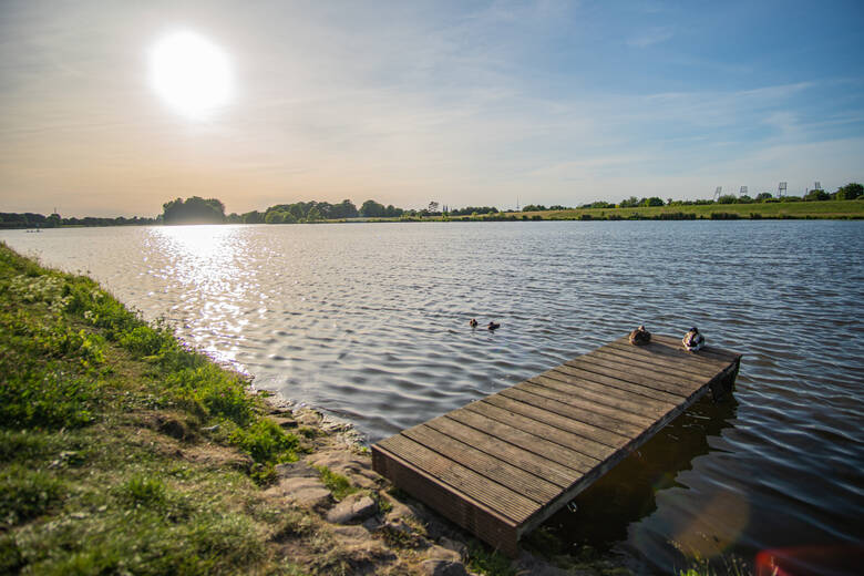
<instances>
[{"instance_id":1,"label":"dark shadow on the water along the dock's right side","mask_svg":"<svg viewBox=\"0 0 864 576\"><path fill-rule=\"evenodd\" d=\"M681 487L678 474L711 450L709 436L731 425L737 410L733 395L718 402L702 398L547 520L543 532L557 541L558 553L585 545L608 552L627 539L631 523L657 510L657 492Z\"/></svg>"}]
</instances>

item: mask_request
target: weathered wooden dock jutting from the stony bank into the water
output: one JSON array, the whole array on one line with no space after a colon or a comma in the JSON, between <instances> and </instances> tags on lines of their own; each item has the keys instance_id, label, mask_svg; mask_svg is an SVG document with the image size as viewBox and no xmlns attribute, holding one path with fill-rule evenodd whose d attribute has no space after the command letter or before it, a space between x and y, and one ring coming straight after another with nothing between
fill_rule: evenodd
<instances>
[{"instance_id":1,"label":"weathered wooden dock jutting from the stony bank into the water","mask_svg":"<svg viewBox=\"0 0 864 576\"><path fill-rule=\"evenodd\" d=\"M708 390L730 391L741 354L677 338L620 338L372 446L374 470L502 552Z\"/></svg>"}]
</instances>

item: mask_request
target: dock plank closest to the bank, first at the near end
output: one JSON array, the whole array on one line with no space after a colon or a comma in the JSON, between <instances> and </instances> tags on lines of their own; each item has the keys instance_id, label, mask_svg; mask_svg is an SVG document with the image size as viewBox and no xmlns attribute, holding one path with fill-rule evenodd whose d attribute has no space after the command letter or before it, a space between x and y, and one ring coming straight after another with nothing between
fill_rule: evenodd
<instances>
[{"instance_id":1,"label":"dock plank closest to the bank, first at the near end","mask_svg":"<svg viewBox=\"0 0 864 576\"><path fill-rule=\"evenodd\" d=\"M465 466L441 457L441 454L402 434L382 440L378 445L409 464L428 472L436 482L454 488L488 510L505 516L514 524L524 522L537 510L536 502L501 484L490 482L488 479Z\"/></svg>"}]
</instances>

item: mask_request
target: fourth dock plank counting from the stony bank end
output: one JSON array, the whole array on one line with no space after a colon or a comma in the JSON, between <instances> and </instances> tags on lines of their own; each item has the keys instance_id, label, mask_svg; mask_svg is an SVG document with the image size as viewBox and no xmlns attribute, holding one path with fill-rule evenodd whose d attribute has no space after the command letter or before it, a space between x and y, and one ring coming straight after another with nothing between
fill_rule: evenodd
<instances>
[{"instance_id":1,"label":"fourth dock plank counting from the stony bank end","mask_svg":"<svg viewBox=\"0 0 864 576\"><path fill-rule=\"evenodd\" d=\"M570 450L564 444L553 442L545 436L525 432L515 425L498 422L497 420L493 420L471 410L454 410L453 412L449 412L444 418L461 422L474 430L485 431L502 442L507 442L514 446L531 451L538 456L543 456L548 462L573 469L576 472L588 472L599 462L597 459Z\"/></svg>"}]
</instances>

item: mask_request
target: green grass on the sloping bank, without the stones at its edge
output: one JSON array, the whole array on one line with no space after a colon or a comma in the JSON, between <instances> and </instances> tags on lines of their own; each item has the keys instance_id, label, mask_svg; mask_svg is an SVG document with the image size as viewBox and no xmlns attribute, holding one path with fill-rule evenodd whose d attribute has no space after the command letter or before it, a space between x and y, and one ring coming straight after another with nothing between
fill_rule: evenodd
<instances>
[{"instance_id":1,"label":"green grass on the sloping bank, without the stones at its edge","mask_svg":"<svg viewBox=\"0 0 864 576\"><path fill-rule=\"evenodd\" d=\"M308 520L257 485L299 439L263 414L164 323L0 244L0 573L299 574L270 542Z\"/></svg>"}]
</instances>

